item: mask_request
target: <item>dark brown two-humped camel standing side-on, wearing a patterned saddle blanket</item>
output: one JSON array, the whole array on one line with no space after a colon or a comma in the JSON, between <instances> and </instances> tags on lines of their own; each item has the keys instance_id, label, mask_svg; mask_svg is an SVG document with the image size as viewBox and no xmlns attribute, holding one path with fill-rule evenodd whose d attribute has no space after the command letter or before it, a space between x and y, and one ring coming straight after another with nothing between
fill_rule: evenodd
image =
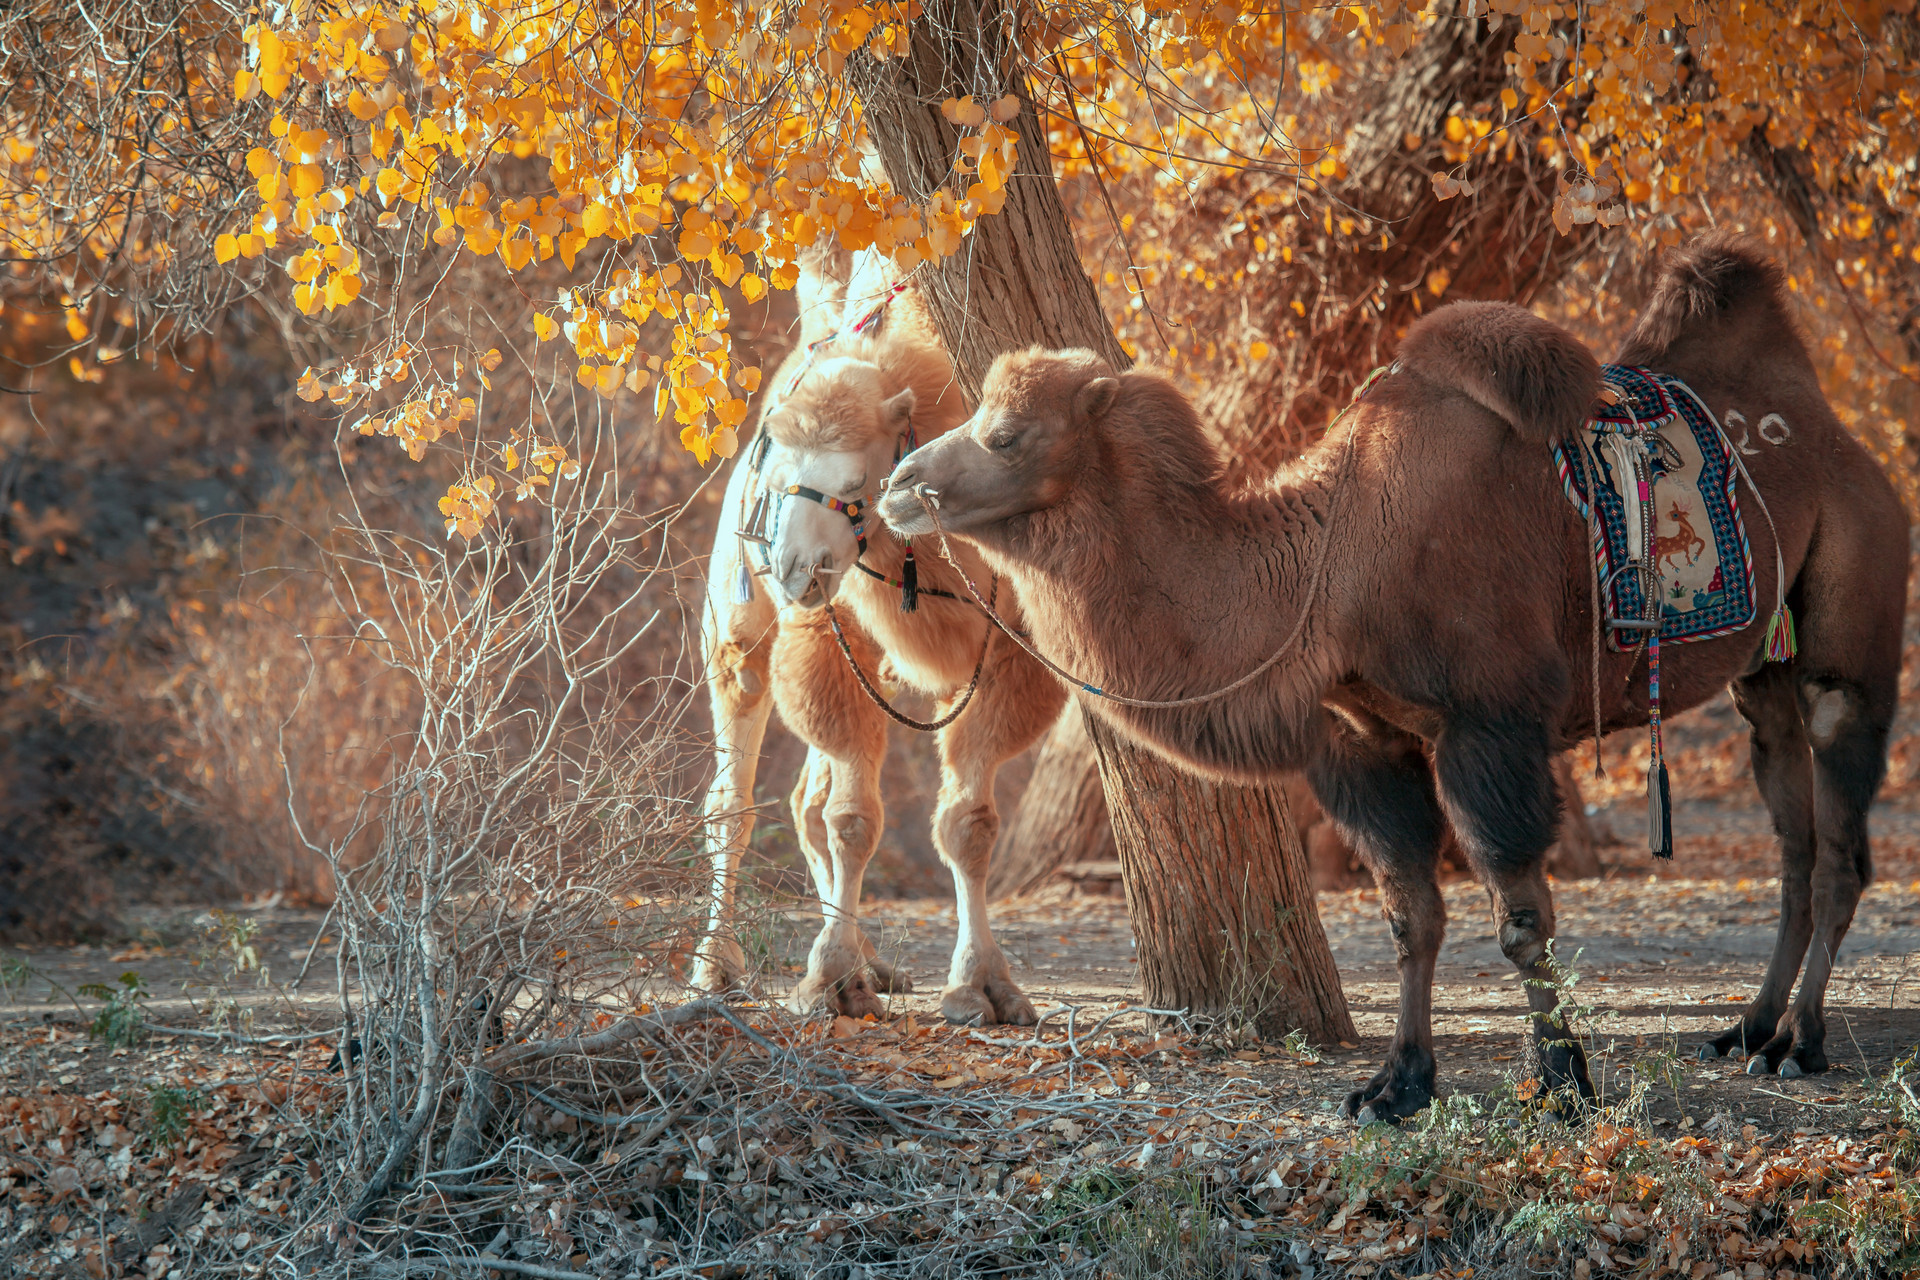
<instances>
[{"instance_id":1,"label":"dark brown two-humped camel standing side-on, wearing a patterned saddle blanket","mask_svg":"<svg viewBox=\"0 0 1920 1280\"><path fill-rule=\"evenodd\" d=\"M1778 528L1799 654L1763 660L1759 610L1743 631L1668 647L1663 697L1680 712L1732 687L1780 833L1772 961L1740 1025L1701 1054L1751 1052L1751 1073L1822 1071L1822 1000L1872 865L1907 516L1828 409L1778 271L1747 244L1716 236L1674 253L1620 361L1686 378L1720 415L1793 424L1789 443L1747 464ZM1217 691L1304 618L1296 649L1217 700L1148 710L1081 697L1202 773L1304 768L1367 860L1400 958L1400 1025L1382 1071L1346 1100L1361 1121L1411 1115L1434 1094L1446 825L1488 885L1501 950L1523 977L1548 977L1549 762L1592 727L1594 645L1586 530L1548 441L1597 391L1594 357L1563 330L1519 307L1455 303L1413 326L1394 372L1323 445L1235 491L1167 382L1035 349L996 361L972 420L902 459L881 499L902 533L933 533L937 518L981 547L1016 585L1035 647L1114 695ZM1774 537L1749 499L1755 599L1772 601ZM1645 723L1642 652L1605 652L1599 689L1605 727ZM1526 998L1544 1082L1584 1094L1584 1055L1548 1019L1557 994L1530 983Z\"/></svg>"}]
</instances>

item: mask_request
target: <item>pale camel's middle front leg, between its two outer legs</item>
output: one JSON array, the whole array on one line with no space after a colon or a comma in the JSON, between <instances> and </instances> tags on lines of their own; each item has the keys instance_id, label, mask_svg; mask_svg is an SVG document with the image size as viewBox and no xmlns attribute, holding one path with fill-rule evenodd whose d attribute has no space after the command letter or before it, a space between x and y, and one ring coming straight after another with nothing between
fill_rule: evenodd
<instances>
[{"instance_id":1,"label":"pale camel's middle front leg, between its two outer legs","mask_svg":"<svg viewBox=\"0 0 1920 1280\"><path fill-rule=\"evenodd\" d=\"M876 960L860 929L860 887L885 821L879 764L877 752L829 760L814 750L793 791L795 831L826 917L806 956L806 977L787 998L795 1013L881 1017L887 1006L879 992L906 988L904 975Z\"/></svg>"}]
</instances>

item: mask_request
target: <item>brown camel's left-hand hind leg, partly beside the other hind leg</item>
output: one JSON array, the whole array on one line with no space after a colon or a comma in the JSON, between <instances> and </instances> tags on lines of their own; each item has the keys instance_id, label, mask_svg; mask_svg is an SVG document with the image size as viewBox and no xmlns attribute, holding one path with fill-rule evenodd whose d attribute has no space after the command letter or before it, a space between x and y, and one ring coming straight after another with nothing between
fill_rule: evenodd
<instances>
[{"instance_id":1,"label":"brown camel's left-hand hind leg, partly beside the other hind leg","mask_svg":"<svg viewBox=\"0 0 1920 1280\"><path fill-rule=\"evenodd\" d=\"M1812 754L1801 723L1793 670L1768 662L1732 685L1734 706L1747 718L1753 781L1766 800L1780 839L1780 931L1766 977L1740 1023L1699 1046L1699 1057L1745 1057L1774 1038L1812 938Z\"/></svg>"}]
</instances>

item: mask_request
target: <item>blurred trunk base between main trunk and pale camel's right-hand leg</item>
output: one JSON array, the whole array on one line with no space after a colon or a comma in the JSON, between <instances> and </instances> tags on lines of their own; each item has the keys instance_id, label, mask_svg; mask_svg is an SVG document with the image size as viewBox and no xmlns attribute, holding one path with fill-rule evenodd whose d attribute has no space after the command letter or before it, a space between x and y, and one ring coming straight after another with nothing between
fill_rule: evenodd
<instances>
[{"instance_id":1,"label":"blurred trunk base between main trunk and pale camel's right-hand leg","mask_svg":"<svg viewBox=\"0 0 1920 1280\"><path fill-rule=\"evenodd\" d=\"M1041 754L1033 760L1033 775L1066 779L1066 785L1044 783L1027 787L1014 821L1000 833L993 856L993 875L987 892L995 898L1033 892L1052 879L1054 871L1073 862L1114 862L1114 825L1106 819L1106 793L1100 789L1100 764L1087 741L1087 727L1077 706L1068 706L1054 723Z\"/></svg>"}]
</instances>

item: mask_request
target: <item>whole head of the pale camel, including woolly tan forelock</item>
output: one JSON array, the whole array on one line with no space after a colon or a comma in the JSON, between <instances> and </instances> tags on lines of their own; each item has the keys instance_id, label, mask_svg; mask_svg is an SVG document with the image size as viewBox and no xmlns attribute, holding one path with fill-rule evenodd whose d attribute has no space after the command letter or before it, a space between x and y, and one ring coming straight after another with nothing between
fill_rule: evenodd
<instances>
[{"instance_id":1,"label":"whole head of the pale camel, including woolly tan forelock","mask_svg":"<svg viewBox=\"0 0 1920 1280\"><path fill-rule=\"evenodd\" d=\"M820 361L768 413L760 424L766 518L758 532L770 539L766 583L776 604L818 608L852 568L858 522L822 499L858 503L866 518L912 413L912 390L885 395L879 368L849 357Z\"/></svg>"}]
</instances>

